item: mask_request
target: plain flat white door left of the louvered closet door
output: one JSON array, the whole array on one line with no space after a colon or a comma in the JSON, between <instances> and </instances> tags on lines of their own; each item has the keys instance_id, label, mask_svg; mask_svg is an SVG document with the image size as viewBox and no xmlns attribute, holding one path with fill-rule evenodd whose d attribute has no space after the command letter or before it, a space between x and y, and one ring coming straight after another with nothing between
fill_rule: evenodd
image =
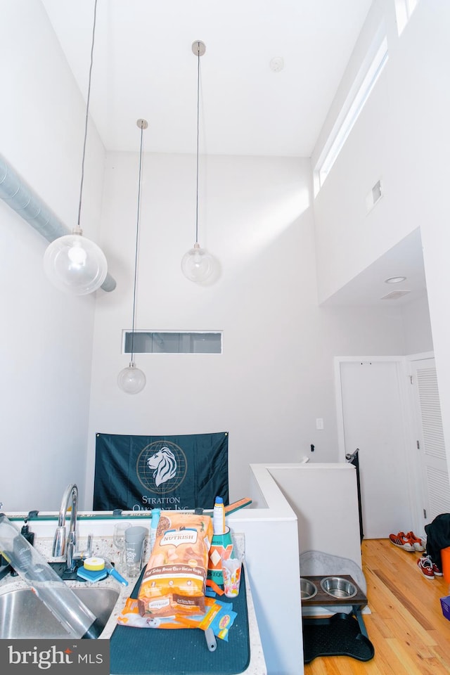
<instances>
[{"instance_id":1,"label":"plain flat white door left of the louvered closet door","mask_svg":"<svg viewBox=\"0 0 450 675\"><path fill-rule=\"evenodd\" d=\"M396 361L341 361L345 454L359 448L364 537L412 529Z\"/></svg>"}]
</instances>

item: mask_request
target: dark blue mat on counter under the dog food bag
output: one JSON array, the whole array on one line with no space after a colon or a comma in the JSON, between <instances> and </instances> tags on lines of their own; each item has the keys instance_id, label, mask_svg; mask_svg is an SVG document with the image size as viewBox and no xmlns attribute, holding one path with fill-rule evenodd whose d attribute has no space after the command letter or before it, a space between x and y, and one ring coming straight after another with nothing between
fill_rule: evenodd
<instances>
[{"instance_id":1,"label":"dark blue mat on counter under the dog food bag","mask_svg":"<svg viewBox=\"0 0 450 675\"><path fill-rule=\"evenodd\" d=\"M143 576L143 572L141 577ZM141 577L131 598L136 598ZM217 649L210 652L205 634L200 629L131 628L117 625L110 639L110 672L112 675L235 675L250 662L245 572L240 591L230 600L238 613L229 631L229 641L217 638Z\"/></svg>"}]
</instances>

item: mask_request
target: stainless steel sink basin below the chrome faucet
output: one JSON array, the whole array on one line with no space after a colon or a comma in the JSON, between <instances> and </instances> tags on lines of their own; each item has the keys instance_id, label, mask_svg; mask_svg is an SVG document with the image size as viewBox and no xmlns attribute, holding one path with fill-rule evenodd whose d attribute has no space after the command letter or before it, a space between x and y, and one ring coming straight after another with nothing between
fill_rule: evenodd
<instances>
[{"instance_id":1,"label":"stainless steel sink basin below the chrome faucet","mask_svg":"<svg viewBox=\"0 0 450 675\"><path fill-rule=\"evenodd\" d=\"M119 593L96 587L73 589L101 624L108 622ZM8 591L0 596L0 639L67 638L68 632L31 589Z\"/></svg>"}]
</instances>

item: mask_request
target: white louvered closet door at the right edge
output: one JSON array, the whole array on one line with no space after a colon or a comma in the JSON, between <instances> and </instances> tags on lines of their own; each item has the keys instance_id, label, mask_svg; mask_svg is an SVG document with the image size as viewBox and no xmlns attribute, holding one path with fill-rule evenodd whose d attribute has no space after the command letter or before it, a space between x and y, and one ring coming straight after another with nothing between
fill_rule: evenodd
<instances>
[{"instance_id":1,"label":"white louvered closet door at the right edge","mask_svg":"<svg viewBox=\"0 0 450 675\"><path fill-rule=\"evenodd\" d=\"M435 359L413 362L420 428L418 444L422 458L424 523L439 513L450 513L449 470L446 462L444 432Z\"/></svg>"}]
</instances>

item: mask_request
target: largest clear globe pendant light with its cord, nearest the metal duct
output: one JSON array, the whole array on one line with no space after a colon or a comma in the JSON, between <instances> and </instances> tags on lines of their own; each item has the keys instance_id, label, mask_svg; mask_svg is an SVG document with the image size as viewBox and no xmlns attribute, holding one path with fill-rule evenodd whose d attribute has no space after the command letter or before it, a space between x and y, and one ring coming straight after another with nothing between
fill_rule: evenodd
<instances>
[{"instance_id":1,"label":"largest clear globe pendant light with its cord, nearest the metal duct","mask_svg":"<svg viewBox=\"0 0 450 675\"><path fill-rule=\"evenodd\" d=\"M91 75L96 32L97 0L94 2L94 25L92 28L91 66L86 102L86 120L84 126L84 144L82 158L82 179L79 188L77 227L72 234L58 237L47 247L44 254L44 271L56 288L70 295L87 295L101 287L108 273L108 263L101 248L93 241L82 236L79 226L82 210L84 181L84 158L86 156L86 137L89 119L89 98L91 97Z\"/></svg>"}]
</instances>

